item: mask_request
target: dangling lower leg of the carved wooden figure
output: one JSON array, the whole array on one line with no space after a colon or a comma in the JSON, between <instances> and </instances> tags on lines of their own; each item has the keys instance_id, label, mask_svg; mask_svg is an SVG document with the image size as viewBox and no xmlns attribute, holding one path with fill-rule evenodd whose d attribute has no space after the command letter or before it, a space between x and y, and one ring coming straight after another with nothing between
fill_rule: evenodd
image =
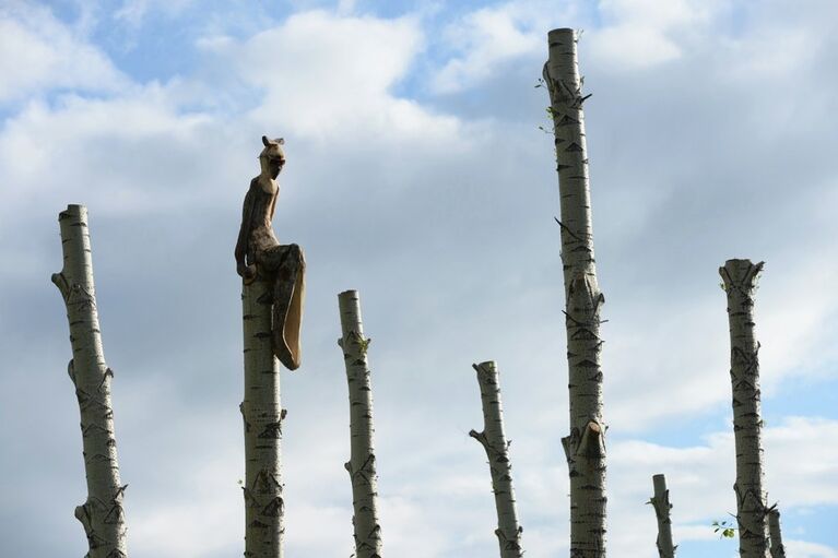
<instances>
[{"instance_id":1,"label":"dangling lower leg of the carved wooden figure","mask_svg":"<svg viewBox=\"0 0 838 558\"><path fill-rule=\"evenodd\" d=\"M296 370L300 364L299 329L306 289L306 260L297 245L278 248L283 253L273 284L273 354L287 369Z\"/></svg>"}]
</instances>

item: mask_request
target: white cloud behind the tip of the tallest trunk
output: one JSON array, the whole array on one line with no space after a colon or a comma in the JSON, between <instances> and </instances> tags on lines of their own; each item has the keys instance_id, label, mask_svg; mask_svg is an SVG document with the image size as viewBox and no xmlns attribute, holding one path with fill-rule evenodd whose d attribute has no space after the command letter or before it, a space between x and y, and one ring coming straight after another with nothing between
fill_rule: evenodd
<instances>
[{"instance_id":1,"label":"white cloud behind the tip of the tallest trunk","mask_svg":"<svg viewBox=\"0 0 838 558\"><path fill-rule=\"evenodd\" d=\"M597 9L602 23L594 23L582 2L556 7L527 0L481 8L446 27L445 46L457 56L434 75L432 90L456 93L504 71L511 60L544 56L545 29L554 26L583 31L582 57L597 64L653 67L680 58L698 37L706 40L710 24L728 9L718 0L603 0Z\"/></svg>"}]
</instances>

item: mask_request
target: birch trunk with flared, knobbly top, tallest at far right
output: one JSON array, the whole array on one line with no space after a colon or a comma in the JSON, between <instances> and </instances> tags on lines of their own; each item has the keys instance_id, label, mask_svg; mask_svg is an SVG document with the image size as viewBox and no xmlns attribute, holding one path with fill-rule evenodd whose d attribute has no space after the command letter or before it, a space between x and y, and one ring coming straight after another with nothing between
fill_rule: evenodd
<instances>
[{"instance_id":1,"label":"birch trunk with flared, knobbly top, tallest at far right","mask_svg":"<svg viewBox=\"0 0 838 558\"><path fill-rule=\"evenodd\" d=\"M742 558L766 558L766 494L763 489L763 420L759 412L759 343L754 336L754 292L763 262L728 260L719 269L728 294L736 441L736 523Z\"/></svg>"}]
</instances>

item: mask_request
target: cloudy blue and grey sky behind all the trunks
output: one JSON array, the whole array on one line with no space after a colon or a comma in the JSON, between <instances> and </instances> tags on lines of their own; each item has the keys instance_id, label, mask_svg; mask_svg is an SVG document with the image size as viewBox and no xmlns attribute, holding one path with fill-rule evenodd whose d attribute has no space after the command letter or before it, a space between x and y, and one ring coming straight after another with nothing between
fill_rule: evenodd
<instances>
[{"instance_id":1,"label":"cloudy blue and grey sky behind all the trunks","mask_svg":"<svg viewBox=\"0 0 838 558\"><path fill-rule=\"evenodd\" d=\"M496 553L471 364L500 370L528 556L566 553L565 334L546 32L585 29L612 556L734 556L718 268L765 260L766 483L789 555L838 558L838 8L831 1L0 3L0 539L83 555L57 214L91 215L134 557L243 551L239 281L259 138L308 261L283 377L287 554L349 555L337 295L362 295L385 551ZM45 535L45 533L47 535Z\"/></svg>"}]
</instances>

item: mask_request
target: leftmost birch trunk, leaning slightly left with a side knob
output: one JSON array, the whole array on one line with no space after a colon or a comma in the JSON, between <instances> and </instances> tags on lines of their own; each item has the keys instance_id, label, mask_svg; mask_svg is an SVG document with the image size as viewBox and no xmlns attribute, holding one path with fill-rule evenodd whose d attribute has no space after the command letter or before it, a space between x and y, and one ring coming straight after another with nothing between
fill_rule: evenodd
<instances>
[{"instance_id":1,"label":"leftmost birch trunk, leaning slightly left with a side knob","mask_svg":"<svg viewBox=\"0 0 838 558\"><path fill-rule=\"evenodd\" d=\"M68 372L79 400L87 477L87 500L75 508L75 518L87 536L88 558L125 558L128 545L122 498L127 485L119 480L110 406L114 371L105 364L102 348L87 209L68 205L67 211L58 214L58 223L63 268L52 274L52 283L61 292L70 322L73 358Z\"/></svg>"}]
</instances>

